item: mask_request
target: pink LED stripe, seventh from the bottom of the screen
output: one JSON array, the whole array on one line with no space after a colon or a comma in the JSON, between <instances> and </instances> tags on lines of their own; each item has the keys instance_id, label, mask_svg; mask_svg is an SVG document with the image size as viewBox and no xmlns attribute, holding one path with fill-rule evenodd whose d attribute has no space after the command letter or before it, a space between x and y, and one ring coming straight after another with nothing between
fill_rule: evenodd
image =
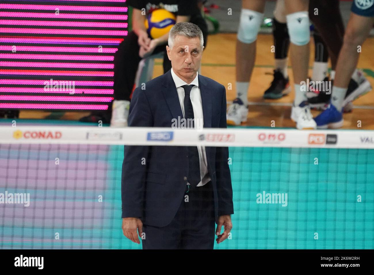
<instances>
[{"instance_id":1,"label":"pink LED stripe, seventh from the bottom of the screen","mask_svg":"<svg viewBox=\"0 0 374 275\"><path fill-rule=\"evenodd\" d=\"M113 55L54 55L54 54L0 54L0 58L22 58L22 59L62 59L62 60L95 60L113 61Z\"/></svg>"}]
</instances>

